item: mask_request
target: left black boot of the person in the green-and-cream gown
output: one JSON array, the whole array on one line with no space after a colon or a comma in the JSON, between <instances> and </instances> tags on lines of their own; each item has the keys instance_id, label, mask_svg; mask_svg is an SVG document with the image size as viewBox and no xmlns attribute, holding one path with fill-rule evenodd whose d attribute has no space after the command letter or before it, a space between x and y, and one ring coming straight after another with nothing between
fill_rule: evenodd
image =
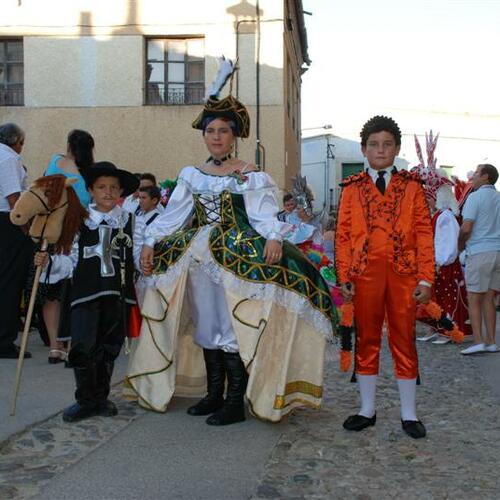
<instances>
[{"instance_id":1,"label":"left black boot of the person in the green-and-cream gown","mask_svg":"<svg viewBox=\"0 0 500 500\"><path fill-rule=\"evenodd\" d=\"M224 353L220 349L203 349L207 369L207 395L194 406L188 408L189 415L209 415L224 404Z\"/></svg>"}]
</instances>

